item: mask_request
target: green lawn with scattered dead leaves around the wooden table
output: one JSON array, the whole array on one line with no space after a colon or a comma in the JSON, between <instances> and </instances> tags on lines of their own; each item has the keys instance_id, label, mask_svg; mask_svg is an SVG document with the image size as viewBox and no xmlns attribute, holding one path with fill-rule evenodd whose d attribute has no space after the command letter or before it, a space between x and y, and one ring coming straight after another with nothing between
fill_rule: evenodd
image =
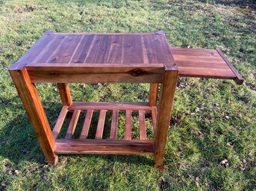
<instances>
[{"instance_id":1,"label":"green lawn with scattered dead leaves around the wooden table","mask_svg":"<svg viewBox=\"0 0 256 191\"><path fill-rule=\"evenodd\" d=\"M1 0L0 190L255 190L253 3ZM220 48L245 82L178 81L164 161L168 169L163 172L152 166L152 156L137 155L61 155L57 166L48 166L7 72L46 30L165 30L172 47ZM52 127L61 109L56 85L37 87ZM72 84L71 89L78 101L149 97L148 84Z\"/></svg>"}]
</instances>

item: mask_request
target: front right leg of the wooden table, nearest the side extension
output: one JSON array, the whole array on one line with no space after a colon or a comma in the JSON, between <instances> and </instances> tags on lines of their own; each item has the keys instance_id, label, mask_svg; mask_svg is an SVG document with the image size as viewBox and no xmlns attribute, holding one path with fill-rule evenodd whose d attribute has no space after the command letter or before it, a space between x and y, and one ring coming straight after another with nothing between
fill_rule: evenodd
<instances>
[{"instance_id":1,"label":"front right leg of the wooden table, nearest the side extension","mask_svg":"<svg viewBox=\"0 0 256 191\"><path fill-rule=\"evenodd\" d=\"M167 70L164 74L160 91L160 103L157 112L157 128L155 132L154 166L163 166L163 155L172 113L172 103L178 78L178 68Z\"/></svg>"}]
</instances>

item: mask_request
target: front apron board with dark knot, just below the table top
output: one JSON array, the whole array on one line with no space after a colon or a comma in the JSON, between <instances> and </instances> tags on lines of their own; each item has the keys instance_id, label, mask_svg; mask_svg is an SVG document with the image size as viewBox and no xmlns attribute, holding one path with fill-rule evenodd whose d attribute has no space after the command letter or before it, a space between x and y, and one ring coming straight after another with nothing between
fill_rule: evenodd
<instances>
[{"instance_id":1,"label":"front apron board with dark knot, just below the table top","mask_svg":"<svg viewBox=\"0 0 256 191\"><path fill-rule=\"evenodd\" d=\"M36 64L38 65L38 64ZM162 82L163 65L26 66L32 82Z\"/></svg>"}]
</instances>

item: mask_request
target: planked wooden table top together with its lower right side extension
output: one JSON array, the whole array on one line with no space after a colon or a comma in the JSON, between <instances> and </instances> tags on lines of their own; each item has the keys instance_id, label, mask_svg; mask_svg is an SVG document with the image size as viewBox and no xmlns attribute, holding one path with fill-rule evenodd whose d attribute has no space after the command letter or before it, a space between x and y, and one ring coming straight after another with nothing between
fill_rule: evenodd
<instances>
[{"instance_id":1,"label":"planked wooden table top together with its lower right side extension","mask_svg":"<svg viewBox=\"0 0 256 191\"><path fill-rule=\"evenodd\" d=\"M49 67L157 67L178 65L180 77L243 77L216 49L170 48L163 31L154 33L46 32L9 69ZM36 68L37 67L37 68Z\"/></svg>"}]
</instances>

